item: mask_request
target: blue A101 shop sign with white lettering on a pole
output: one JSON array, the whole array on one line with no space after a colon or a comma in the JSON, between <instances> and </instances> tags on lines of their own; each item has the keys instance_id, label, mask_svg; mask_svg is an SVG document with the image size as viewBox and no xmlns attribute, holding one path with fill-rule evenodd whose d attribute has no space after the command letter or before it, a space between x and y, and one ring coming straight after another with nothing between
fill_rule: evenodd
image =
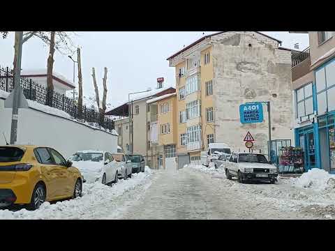
<instances>
[{"instance_id":1,"label":"blue A101 shop sign with white lettering on a pole","mask_svg":"<svg viewBox=\"0 0 335 251\"><path fill-rule=\"evenodd\" d=\"M239 118L241 123L263 122L263 106L261 102L239 105Z\"/></svg>"}]
</instances>

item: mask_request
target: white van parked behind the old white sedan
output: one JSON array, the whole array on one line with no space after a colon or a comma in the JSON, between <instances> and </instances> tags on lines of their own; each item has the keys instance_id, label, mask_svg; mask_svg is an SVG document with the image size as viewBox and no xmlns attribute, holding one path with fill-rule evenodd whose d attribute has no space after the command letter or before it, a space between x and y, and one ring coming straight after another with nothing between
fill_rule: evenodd
<instances>
[{"instance_id":1,"label":"white van parked behind the old white sedan","mask_svg":"<svg viewBox=\"0 0 335 251\"><path fill-rule=\"evenodd\" d=\"M208 167L214 164L221 154L227 155L229 157L232 154L232 149L225 143L211 143L208 146L208 151L201 152L201 164Z\"/></svg>"}]
</instances>

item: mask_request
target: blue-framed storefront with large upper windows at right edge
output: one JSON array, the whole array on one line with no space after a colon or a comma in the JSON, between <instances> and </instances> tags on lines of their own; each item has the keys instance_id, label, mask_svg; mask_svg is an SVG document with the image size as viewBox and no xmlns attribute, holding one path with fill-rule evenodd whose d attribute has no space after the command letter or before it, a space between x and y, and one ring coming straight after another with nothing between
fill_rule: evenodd
<instances>
[{"instance_id":1,"label":"blue-framed storefront with large upper windows at right edge","mask_svg":"<svg viewBox=\"0 0 335 251\"><path fill-rule=\"evenodd\" d=\"M311 121L295 128L295 144L304 149L305 171L335 174L335 58L314 70L315 83L296 90L297 118Z\"/></svg>"}]
</instances>

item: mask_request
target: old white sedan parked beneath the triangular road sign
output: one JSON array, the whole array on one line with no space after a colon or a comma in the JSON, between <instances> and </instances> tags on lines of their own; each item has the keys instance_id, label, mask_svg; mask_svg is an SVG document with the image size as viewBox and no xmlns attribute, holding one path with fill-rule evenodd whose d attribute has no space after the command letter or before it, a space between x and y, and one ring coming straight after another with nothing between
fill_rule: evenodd
<instances>
[{"instance_id":1,"label":"old white sedan parked beneath the triangular road sign","mask_svg":"<svg viewBox=\"0 0 335 251\"><path fill-rule=\"evenodd\" d=\"M232 153L225 166L225 175L228 179L237 177L239 183L246 180L270 181L275 183L277 167L269 164L265 155L260 153Z\"/></svg>"}]
</instances>

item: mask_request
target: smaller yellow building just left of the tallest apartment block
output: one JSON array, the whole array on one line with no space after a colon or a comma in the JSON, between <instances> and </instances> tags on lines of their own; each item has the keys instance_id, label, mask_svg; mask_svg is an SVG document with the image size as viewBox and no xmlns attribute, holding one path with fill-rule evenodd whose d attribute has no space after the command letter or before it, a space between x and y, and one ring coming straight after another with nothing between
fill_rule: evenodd
<instances>
[{"instance_id":1,"label":"smaller yellow building just left of the tallest apartment block","mask_svg":"<svg viewBox=\"0 0 335 251\"><path fill-rule=\"evenodd\" d=\"M177 94L147 100L147 158L153 169L177 169Z\"/></svg>"}]
</instances>

